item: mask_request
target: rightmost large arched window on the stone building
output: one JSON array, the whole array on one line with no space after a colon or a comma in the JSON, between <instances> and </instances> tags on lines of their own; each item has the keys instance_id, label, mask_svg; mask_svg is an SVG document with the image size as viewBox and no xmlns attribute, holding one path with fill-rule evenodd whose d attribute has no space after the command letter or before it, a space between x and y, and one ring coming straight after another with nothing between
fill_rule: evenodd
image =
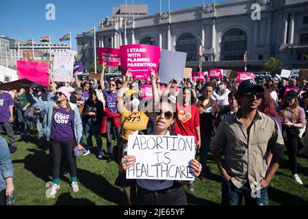
<instances>
[{"instance_id":1,"label":"rightmost large arched window on the stone building","mask_svg":"<svg viewBox=\"0 0 308 219\"><path fill-rule=\"evenodd\" d=\"M241 29L230 29L222 37L221 60L243 60L247 50L247 36Z\"/></svg>"}]
</instances>

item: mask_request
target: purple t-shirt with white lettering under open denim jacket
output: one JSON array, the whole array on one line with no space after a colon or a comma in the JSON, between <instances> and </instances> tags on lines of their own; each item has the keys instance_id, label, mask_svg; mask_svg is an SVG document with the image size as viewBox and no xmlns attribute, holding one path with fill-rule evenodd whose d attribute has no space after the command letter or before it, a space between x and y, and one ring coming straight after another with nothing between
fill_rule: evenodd
<instances>
[{"instance_id":1,"label":"purple t-shirt with white lettering under open denim jacket","mask_svg":"<svg viewBox=\"0 0 308 219\"><path fill-rule=\"evenodd\" d=\"M66 142L74 138L72 114L67 113L66 108L60 107L59 110L55 110L50 138L57 142Z\"/></svg>"}]
</instances>

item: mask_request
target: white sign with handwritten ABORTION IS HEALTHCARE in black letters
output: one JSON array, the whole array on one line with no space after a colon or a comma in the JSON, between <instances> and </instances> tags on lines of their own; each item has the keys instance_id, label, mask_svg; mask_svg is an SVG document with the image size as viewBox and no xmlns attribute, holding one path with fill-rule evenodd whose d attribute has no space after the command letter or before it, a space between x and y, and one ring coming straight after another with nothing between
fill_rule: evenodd
<instances>
[{"instance_id":1,"label":"white sign with handwritten ABORTION IS HEALTHCARE in black letters","mask_svg":"<svg viewBox=\"0 0 308 219\"><path fill-rule=\"evenodd\" d=\"M128 155L136 163L127 179L194 180L189 163L194 159L193 136L129 136Z\"/></svg>"}]
</instances>

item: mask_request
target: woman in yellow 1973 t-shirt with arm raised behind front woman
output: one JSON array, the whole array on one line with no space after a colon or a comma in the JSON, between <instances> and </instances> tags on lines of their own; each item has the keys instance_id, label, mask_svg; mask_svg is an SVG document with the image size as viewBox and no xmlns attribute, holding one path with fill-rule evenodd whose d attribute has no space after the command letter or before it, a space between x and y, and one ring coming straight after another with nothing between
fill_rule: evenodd
<instances>
[{"instance_id":1,"label":"woman in yellow 1973 t-shirt with arm raised behind front woman","mask_svg":"<svg viewBox=\"0 0 308 219\"><path fill-rule=\"evenodd\" d=\"M145 130L151 116L151 113L146 114L139 110L138 92L133 89L126 91L131 78L132 75L128 69L125 79L123 78L123 85L118 90L116 97L118 112L121 118L120 142L118 143L117 156L115 157L117 163L120 163L122 157L126 155L123 149L127 146L129 136L135 131ZM136 196L136 181L125 179L125 174L120 173L115 184L124 188L127 203L131 205Z\"/></svg>"}]
</instances>

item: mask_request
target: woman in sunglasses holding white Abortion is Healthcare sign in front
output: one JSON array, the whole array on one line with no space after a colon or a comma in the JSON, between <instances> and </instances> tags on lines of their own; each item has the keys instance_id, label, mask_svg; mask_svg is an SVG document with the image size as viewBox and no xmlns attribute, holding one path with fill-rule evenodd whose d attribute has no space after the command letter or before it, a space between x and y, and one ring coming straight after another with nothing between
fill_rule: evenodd
<instances>
[{"instance_id":1,"label":"woman in sunglasses holding white Abortion is Healthcare sign in front","mask_svg":"<svg viewBox=\"0 0 308 219\"><path fill-rule=\"evenodd\" d=\"M175 122L176 113L172 104L167 100L159 101L159 92L155 81L155 73L151 72L151 82L153 86L153 110L154 125L151 135L155 136L176 136L170 131ZM133 155L127 155L122 158L120 170L125 172L131 168L136 159ZM192 159L189 168L195 177L198 177L202 167L196 159ZM137 179L137 205L187 205L186 195L183 190L183 184L188 181L176 180L155 180L155 179Z\"/></svg>"}]
</instances>

